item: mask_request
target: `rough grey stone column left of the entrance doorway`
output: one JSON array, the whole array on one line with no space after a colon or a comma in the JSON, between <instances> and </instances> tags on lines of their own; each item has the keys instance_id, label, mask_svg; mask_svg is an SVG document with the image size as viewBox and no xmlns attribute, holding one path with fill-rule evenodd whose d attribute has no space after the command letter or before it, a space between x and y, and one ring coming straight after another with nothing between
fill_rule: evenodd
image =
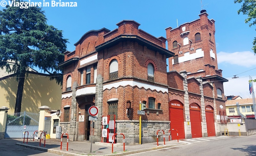
<instances>
[{"instance_id":1,"label":"rough grey stone column left of the entrance doorway","mask_svg":"<svg viewBox=\"0 0 256 156\"><path fill-rule=\"evenodd\" d=\"M70 115L70 128L69 128L69 140L76 141L78 137L78 129L76 122L76 111L77 111L77 103L76 103L76 87L77 82L75 81L72 86L72 100L71 100L71 115Z\"/></svg>"}]
</instances>

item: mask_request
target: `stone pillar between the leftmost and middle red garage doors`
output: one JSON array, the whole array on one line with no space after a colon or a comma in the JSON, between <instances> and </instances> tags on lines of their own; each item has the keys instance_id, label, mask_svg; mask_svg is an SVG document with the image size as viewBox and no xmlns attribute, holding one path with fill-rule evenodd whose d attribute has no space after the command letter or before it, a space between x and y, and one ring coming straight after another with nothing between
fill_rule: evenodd
<instances>
[{"instance_id":1,"label":"stone pillar between the leftmost and middle red garage doors","mask_svg":"<svg viewBox=\"0 0 256 156\"><path fill-rule=\"evenodd\" d=\"M182 77L184 77L183 86L184 86L184 107L185 107L185 117L186 121L184 122L185 126L185 138L192 138L191 133L191 123L190 123L190 113L189 113L189 100L188 100L188 80L187 80L187 72L186 70L180 71Z\"/></svg>"}]
</instances>

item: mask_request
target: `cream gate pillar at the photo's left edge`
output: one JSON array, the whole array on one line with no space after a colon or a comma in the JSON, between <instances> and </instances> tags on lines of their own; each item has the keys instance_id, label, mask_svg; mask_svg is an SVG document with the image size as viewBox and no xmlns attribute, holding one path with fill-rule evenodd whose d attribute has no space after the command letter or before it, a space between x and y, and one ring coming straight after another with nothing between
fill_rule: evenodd
<instances>
[{"instance_id":1,"label":"cream gate pillar at the photo's left edge","mask_svg":"<svg viewBox=\"0 0 256 156\"><path fill-rule=\"evenodd\" d=\"M10 108L8 107L0 107L0 139L4 138L5 127L6 127L6 119L7 119L7 112Z\"/></svg>"}]
</instances>

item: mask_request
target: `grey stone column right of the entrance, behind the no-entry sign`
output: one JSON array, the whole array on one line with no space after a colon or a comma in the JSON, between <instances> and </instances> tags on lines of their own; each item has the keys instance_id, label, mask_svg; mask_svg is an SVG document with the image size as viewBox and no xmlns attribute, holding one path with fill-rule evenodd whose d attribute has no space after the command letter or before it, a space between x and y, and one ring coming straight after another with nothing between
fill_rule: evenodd
<instances>
[{"instance_id":1,"label":"grey stone column right of the entrance, behind the no-entry sign","mask_svg":"<svg viewBox=\"0 0 256 156\"><path fill-rule=\"evenodd\" d=\"M96 79L95 106L98 106L99 108L99 115L98 115L97 121L95 121L94 123L93 142L100 142L102 114L103 114L102 112L103 111L103 77L100 74L98 74Z\"/></svg>"}]
</instances>

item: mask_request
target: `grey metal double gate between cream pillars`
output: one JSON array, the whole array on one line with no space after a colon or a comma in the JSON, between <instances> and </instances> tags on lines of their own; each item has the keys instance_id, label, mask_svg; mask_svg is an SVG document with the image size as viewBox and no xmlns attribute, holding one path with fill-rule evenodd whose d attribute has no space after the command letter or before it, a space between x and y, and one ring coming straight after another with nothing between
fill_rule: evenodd
<instances>
[{"instance_id":1,"label":"grey metal double gate between cream pillars","mask_svg":"<svg viewBox=\"0 0 256 156\"><path fill-rule=\"evenodd\" d=\"M4 138L22 138L23 133L30 134L38 130L39 113L20 112L7 114Z\"/></svg>"}]
</instances>

